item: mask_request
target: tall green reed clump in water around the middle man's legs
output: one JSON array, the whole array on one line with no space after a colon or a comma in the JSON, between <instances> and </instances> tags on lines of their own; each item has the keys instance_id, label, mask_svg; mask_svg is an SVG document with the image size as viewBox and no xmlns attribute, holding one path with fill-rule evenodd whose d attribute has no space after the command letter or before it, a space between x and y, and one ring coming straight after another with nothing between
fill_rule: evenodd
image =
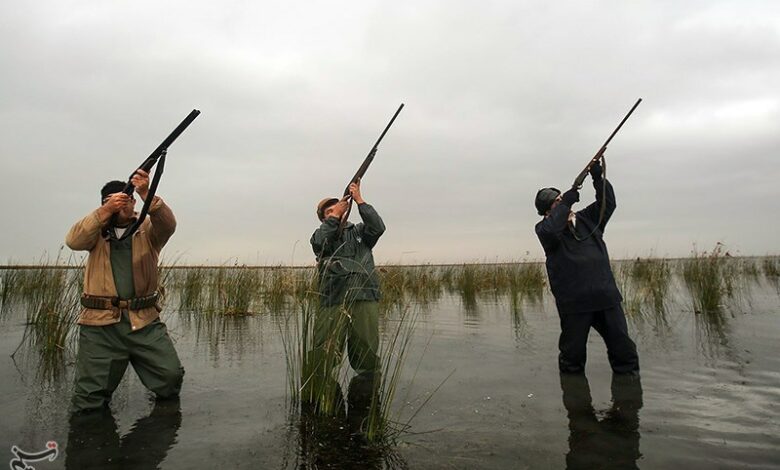
<instances>
[{"instance_id":1,"label":"tall green reed clump in water around the middle man's legs","mask_svg":"<svg viewBox=\"0 0 780 470\"><path fill-rule=\"evenodd\" d=\"M296 308L279 323L289 409L307 423L309 431L346 417L343 427L361 435L369 445L391 445L408 427L408 422L401 424L396 419L393 408L416 325L412 309L398 300L406 291L399 289L392 301L380 304L384 328L380 328L377 369L352 371L344 354L347 343L339 339L346 339L352 309L348 305L320 307L313 274L295 278L294 291L300 293L295 297ZM398 276L393 279L396 286L402 285L399 277L404 273L390 274ZM346 397L343 390L347 390Z\"/></svg>"}]
</instances>

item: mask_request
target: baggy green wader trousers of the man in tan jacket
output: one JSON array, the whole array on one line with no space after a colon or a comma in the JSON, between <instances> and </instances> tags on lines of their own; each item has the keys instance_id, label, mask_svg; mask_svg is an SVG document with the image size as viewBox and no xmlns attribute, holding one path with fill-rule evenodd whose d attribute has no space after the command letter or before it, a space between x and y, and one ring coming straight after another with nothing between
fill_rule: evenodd
<instances>
[{"instance_id":1,"label":"baggy green wader trousers of the man in tan jacket","mask_svg":"<svg viewBox=\"0 0 780 470\"><path fill-rule=\"evenodd\" d=\"M79 329L73 411L108 406L128 362L141 383L158 397L178 396L184 368L165 323L158 319L133 331L127 314L122 313L119 323L81 325Z\"/></svg>"}]
</instances>

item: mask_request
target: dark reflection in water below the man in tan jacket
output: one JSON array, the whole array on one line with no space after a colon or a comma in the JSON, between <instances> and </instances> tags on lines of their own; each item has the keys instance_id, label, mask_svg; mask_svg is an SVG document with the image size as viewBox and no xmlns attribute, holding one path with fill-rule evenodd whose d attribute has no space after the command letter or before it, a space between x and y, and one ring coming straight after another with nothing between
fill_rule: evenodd
<instances>
[{"instance_id":1,"label":"dark reflection in water below the man in tan jacket","mask_svg":"<svg viewBox=\"0 0 780 470\"><path fill-rule=\"evenodd\" d=\"M157 401L151 414L136 421L121 439L108 408L93 413L73 413L65 468L159 468L168 450L176 443L179 426L178 399Z\"/></svg>"}]
</instances>

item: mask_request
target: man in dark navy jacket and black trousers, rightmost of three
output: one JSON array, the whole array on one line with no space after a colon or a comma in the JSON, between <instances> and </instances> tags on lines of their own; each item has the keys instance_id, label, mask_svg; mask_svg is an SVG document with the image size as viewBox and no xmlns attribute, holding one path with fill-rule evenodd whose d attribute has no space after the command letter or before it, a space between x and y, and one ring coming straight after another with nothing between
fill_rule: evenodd
<instances>
[{"instance_id":1,"label":"man in dark navy jacket and black trousers, rightmost of three","mask_svg":"<svg viewBox=\"0 0 780 470\"><path fill-rule=\"evenodd\" d=\"M544 216L536 224L536 234L547 257L550 289L561 320L558 365L561 372L585 370L588 333L593 327L604 338L612 370L638 374L639 356L628 336L621 306L623 298L615 284L607 245L602 238L615 211L615 192L612 184L602 178L599 163L591 167L590 174L596 188L596 202L581 211L571 210L580 199L575 188L563 195L555 188L544 188L536 194L536 209ZM599 223L602 204L605 204L604 220Z\"/></svg>"}]
</instances>

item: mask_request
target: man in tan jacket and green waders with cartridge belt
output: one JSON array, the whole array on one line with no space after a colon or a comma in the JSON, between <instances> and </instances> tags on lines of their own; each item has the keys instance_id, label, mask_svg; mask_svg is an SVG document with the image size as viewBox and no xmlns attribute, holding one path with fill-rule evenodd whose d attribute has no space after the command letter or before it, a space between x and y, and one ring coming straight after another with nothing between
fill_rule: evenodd
<instances>
[{"instance_id":1,"label":"man in tan jacket and green waders with cartridge belt","mask_svg":"<svg viewBox=\"0 0 780 470\"><path fill-rule=\"evenodd\" d=\"M149 175L138 170L132 183L145 200ZM76 222L65 239L71 249L89 251L79 318L75 411L107 406L128 362L158 397L177 396L181 388L184 369L157 304L157 261L176 219L155 196L149 218L132 236L119 240L135 219L135 199L122 192L124 186L121 181L106 183L100 191L103 204Z\"/></svg>"}]
</instances>

